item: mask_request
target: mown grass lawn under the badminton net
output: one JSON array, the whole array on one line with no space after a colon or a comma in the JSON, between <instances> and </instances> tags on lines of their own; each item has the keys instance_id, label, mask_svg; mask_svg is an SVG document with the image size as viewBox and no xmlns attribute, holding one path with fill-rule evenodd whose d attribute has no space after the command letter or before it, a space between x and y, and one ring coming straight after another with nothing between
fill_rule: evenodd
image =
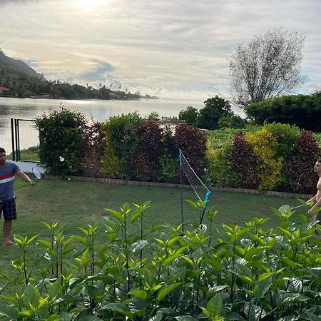
<instances>
[{"instance_id":1,"label":"mown grass lawn under the badminton net","mask_svg":"<svg viewBox=\"0 0 321 321\"><path fill-rule=\"evenodd\" d=\"M108 215L105 208L118 210L123 203L144 203L151 200L151 208L144 216L144 228L152 225L180 224L180 189L156 188L130 185L110 185L106 183L88 183L73 180L38 180L31 186L16 179L16 203L18 220L14 221L11 235L35 235L49 238L47 230L41 222L58 222L65 226L66 236L82 235L78 227L86 228L87 224L102 225L103 216ZM183 190L183 199L195 201L193 190ZM250 195L242 193L213 193L209 207L215 207L218 215L216 223L228 225L245 225L244 223L257 216L270 218L265 225L273 228L278 220L271 207L281 205L299 205L291 198L278 198L266 195ZM198 222L198 213L184 202L185 223ZM206 222L205 222L206 223ZM98 243L103 243L106 236L98 233ZM21 255L19 247L3 246L1 239L1 273L11 270L10 263Z\"/></svg>"}]
</instances>

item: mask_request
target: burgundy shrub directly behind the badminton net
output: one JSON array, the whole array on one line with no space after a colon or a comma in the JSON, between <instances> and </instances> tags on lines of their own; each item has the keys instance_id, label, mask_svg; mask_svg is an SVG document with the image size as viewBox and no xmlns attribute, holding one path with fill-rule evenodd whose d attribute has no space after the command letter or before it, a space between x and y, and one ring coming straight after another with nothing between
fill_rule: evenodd
<instances>
[{"instance_id":1,"label":"burgundy shrub directly behind the badminton net","mask_svg":"<svg viewBox=\"0 0 321 321\"><path fill-rule=\"evenodd\" d=\"M204 158L206 151L206 138L204 134L200 133L193 126L180 123L175 128L174 144L177 159L178 150L180 149L195 172L203 176L205 173Z\"/></svg>"}]
</instances>

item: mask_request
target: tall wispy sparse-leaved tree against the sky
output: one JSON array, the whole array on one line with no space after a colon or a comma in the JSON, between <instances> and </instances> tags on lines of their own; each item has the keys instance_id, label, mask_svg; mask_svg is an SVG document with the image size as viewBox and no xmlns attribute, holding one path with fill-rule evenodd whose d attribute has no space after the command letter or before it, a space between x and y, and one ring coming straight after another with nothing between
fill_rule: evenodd
<instances>
[{"instance_id":1,"label":"tall wispy sparse-leaved tree against the sky","mask_svg":"<svg viewBox=\"0 0 321 321\"><path fill-rule=\"evenodd\" d=\"M300 64L305 36L282 28L255 36L249 44L238 44L230 56L230 78L235 103L277 97L302 83Z\"/></svg>"}]
</instances>

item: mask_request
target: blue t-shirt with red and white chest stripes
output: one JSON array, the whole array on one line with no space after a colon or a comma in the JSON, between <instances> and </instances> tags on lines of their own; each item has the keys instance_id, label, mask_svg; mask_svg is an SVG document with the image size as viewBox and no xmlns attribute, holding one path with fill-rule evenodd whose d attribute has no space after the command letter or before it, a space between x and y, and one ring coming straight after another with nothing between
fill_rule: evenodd
<instances>
[{"instance_id":1,"label":"blue t-shirt with red and white chest stripes","mask_svg":"<svg viewBox=\"0 0 321 321\"><path fill-rule=\"evenodd\" d=\"M0 200L11 200L14 198L14 174L20 168L15 163L6 162L0 167Z\"/></svg>"}]
</instances>

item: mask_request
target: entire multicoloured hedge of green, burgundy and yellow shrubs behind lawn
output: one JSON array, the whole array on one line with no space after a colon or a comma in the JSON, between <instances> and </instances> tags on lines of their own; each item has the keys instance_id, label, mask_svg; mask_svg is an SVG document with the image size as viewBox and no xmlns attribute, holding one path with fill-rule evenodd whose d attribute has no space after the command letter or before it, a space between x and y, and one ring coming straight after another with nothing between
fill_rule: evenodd
<instances>
[{"instance_id":1,"label":"entire multicoloured hedge of green, burgundy and yellow shrubs behind lawn","mask_svg":"<svg viewBox=\"0 0 321 321\"><path fill-rule=\"evenodd\" d=\"M82 113L62 108L36 118L36 128L41 165L54 175L177 183L180 148L210 185L311 193L321 155L312 132L281 123L234 131L219 147L213 133L161 127L136 112L87 126Z\"/></svg>"}]
</instances>

